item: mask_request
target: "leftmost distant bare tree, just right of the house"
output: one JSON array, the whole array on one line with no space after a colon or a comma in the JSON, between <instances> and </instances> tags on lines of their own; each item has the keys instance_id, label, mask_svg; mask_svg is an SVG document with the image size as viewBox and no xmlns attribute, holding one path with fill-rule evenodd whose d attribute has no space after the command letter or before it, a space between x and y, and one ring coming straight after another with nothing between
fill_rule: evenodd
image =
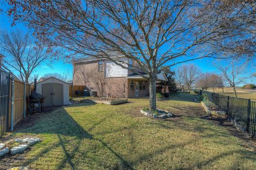
<instances>
[{"instance_id":1,"label":"leftmost distant bare tree, just right of the house","mask_svg":"<svg viewBox=\"0 0 256 170\"><path fill-rule=\"evenodd\" d=\"M186 64L181 66L181 70L183 74L183 81L188 87L188 91L190 91L191 85L199 78L199 68L194 64Z\"/></svg>"}]
</instances>

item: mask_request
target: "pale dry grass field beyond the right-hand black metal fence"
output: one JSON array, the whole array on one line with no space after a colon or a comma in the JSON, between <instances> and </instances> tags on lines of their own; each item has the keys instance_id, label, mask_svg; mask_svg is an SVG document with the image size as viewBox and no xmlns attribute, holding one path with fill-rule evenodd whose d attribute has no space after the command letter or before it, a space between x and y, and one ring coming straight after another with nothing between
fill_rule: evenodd
<instances>
[{"instance_id":1,"label":"pale dry grass field beyond the right-hand black metal fence","mask_svg":"<svg viewBox=\"0 0 256 170\"><path fill-rule=\"evenodd\" d=\"M213 89L208 89L207 91L213 92ZM233 89L229 87L224 88L224 93L222 92L221 88L217 88L214 90L215 93L221 94L221 95L226 95L226 96L235 96ZM251 99L252 101L256 101L256 90L245 90L242 89L241 87L238 87L236 89L237 92L237 97L239 98L245 98L245 99Z\"/></svg>"}]
</instances>

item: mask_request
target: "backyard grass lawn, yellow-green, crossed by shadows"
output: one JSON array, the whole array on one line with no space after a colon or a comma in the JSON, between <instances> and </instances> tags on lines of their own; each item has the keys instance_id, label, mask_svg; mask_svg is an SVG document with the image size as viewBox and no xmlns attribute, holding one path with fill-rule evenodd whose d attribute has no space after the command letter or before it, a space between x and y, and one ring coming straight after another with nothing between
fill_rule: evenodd
<instances>
[{"instance_id":1,"label":"backyard grass lawn, yellow-green, crossed by shadows","mask_svg":"<svg viewBox=\"0 0 256 170\"><path fill-rule=\"evenodd\" d=\"M193 95L158 101L180 117L140 114L148 99L122 105L76 104L39 114L14 137L43 139L15 166L34 169L255 169L256 154L225 128L199 118ZM0 162L1 164L1 162Z\"/></svg>"}]
</instances>

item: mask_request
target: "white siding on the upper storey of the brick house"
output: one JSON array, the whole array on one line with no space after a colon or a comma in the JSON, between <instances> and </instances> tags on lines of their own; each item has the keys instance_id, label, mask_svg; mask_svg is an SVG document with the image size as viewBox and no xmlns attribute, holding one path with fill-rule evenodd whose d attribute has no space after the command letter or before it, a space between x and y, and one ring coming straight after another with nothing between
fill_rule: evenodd
<instances>
[{"instance_id":1,"label":"white siding on the upper storey of the brick house","mask_svg":"<svg viewBox=\"0 0 256 170\"><path fill-rule=\"evenodd\" d=\"M123 64L127 66L127 64ZM123 69L121 66L116 65L115 63L109 61L106 62L105 67L105 77L126 77L128 75L128 70Z\"/></svg>"}]
</instances>

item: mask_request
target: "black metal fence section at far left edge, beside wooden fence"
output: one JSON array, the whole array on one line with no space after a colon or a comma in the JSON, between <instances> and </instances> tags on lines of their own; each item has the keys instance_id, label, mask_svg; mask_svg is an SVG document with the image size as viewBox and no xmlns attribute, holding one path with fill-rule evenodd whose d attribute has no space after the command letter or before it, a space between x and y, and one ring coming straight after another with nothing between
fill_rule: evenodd
<instances>
[{"instance_id":1,"label":"black metal fence section at far left edge, beside wooden fence","mask_svg":"<svg viewBox=\"0 0 256 170\"><path fill-rule=\"evenodd\" d=\"M10 73L0 70L0 138L9 130Z\"/></svg>"}]
</instances>

